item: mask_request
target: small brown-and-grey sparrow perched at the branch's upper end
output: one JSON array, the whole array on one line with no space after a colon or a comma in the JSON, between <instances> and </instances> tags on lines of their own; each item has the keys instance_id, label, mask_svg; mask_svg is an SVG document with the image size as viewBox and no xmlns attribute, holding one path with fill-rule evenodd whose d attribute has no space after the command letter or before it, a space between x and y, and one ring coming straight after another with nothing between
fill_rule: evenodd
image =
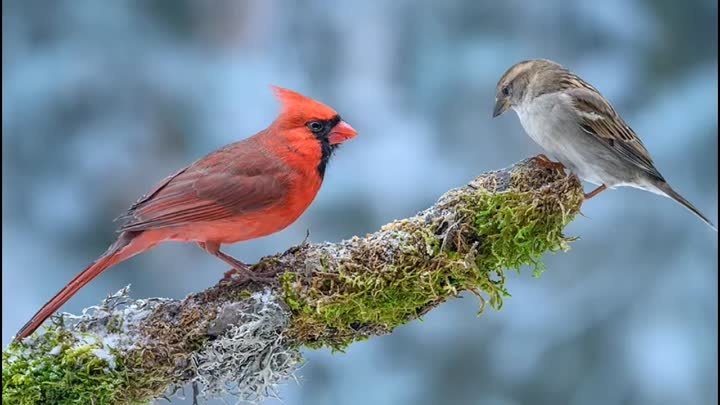
<instances>
[{"instance_id":1,"label":"small brown-and-grey sparrow perched at the branch's upper end","mask_svg":"<svg viewBox=\"0 0 720 405\"><path fill-rule=\"evenodd\" d=\"M585 198L607 188L629 186L669 197L717 231L708 218L673 190L640 138L593 86L545 59L510 67L495 92L497 117L512 108L528 135L558 162L539 155L547 167L566 167L598 185Z\"/></svg>"}]
</instances>

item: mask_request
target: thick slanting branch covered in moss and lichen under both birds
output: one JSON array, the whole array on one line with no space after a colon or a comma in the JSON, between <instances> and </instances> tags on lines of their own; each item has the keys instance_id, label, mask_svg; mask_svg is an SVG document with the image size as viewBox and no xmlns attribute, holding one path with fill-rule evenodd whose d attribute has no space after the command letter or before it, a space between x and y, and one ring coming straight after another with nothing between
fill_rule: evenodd
<instances>
[{"instance_id":1,"label":"thick slanting branch covered in moss and lichen under both birds","mask_svg":"<svg viewBox=\"0 0 720 405\"><path fill-rule=\"evenodd\" d=\"M579 181L526 160L451 190L364 237L263 258L274 282L221 282L182 301L127 291L3 351L3 404L146 403L193 383L201 395L259 401L302 361L390 333L463 291L500 308L504 271L542 271L567 248Z\"/></svg>"}]
</instances>

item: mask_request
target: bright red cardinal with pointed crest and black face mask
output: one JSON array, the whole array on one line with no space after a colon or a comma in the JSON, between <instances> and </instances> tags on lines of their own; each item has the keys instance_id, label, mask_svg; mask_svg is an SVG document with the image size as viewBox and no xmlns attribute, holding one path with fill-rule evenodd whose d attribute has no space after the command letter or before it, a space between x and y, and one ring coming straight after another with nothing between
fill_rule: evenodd
<instances>
[{"instance_id":1,"label":"bright red cardinal with pointed crest and black face mask","mask_svg":"<svg viewBox=\"0 0 720 405\"><path fill-rule=\"evenodd\" d=\"M320 190L337 146L357 134L332 108L290 90L273 90L283 108L270 127L205 156L140 198L120 218L117 241L45 304L16 340L33 333L105 269L162 242L196 242L253 279L248 267L220 246L293 223Z\"/></svg>"}]
</instances>

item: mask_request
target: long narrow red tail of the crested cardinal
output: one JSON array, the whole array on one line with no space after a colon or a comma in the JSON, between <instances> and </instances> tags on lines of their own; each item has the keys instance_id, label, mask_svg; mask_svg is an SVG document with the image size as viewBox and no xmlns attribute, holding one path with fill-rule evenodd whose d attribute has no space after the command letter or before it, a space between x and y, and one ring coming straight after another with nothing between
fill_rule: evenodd
<instances>
[{"instance_id":1,"label":"long narrow red tail of the crested cardinal","mask_svg":"<svg viewBox=\"0 0 720 405\"><path fill-rule=\"evenodd\" d=\"M123 232L117 241L90 266L75 276L60 292L58 292L18 331L15 340L19 341L32 334L45 320L67 302L75 293L104 270L124 261L138 253L150 249L154 244L139 238L141 232Z\"/></svg>"}]
</instances>

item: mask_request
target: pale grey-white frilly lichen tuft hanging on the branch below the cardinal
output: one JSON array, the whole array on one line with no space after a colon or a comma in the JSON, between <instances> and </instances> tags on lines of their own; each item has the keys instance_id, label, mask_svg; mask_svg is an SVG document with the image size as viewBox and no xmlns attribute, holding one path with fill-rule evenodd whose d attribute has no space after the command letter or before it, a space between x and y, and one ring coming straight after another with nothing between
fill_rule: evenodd
<instances>
[{"instance_id":1,"label":"pale grey-white frilly lichen tuft hanging on the branch below the cardinal","mask_svg":"<svg viewBox=\"0 0 720 405\"><path fill-rule=\"evenodd\" d=\"M277 397L278 384L292 378L302 363L300 352L289 346L283 334L290 312L266 289L225 305L218 313L218 320L232 319L232 323L192 357L193 382L199 384L200 396L230 394L238 402L255 403Z\"/></svg>"}]
</instances>

